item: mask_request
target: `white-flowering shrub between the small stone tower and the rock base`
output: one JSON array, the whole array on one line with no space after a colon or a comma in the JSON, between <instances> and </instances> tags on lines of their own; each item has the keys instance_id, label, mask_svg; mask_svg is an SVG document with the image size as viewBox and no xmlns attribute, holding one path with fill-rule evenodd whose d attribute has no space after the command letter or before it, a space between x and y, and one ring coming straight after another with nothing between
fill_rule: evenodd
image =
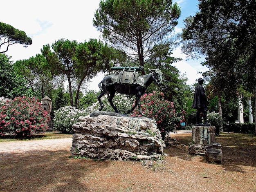
<instances>
[{"instance_id":1,"label":"white-flowering shrub between the small stone tower and the rock base","mask_svg":"<svg viewBox=\"0 0 256 192\"><path fill-rule=\"evenodd\" d=\"M87 116L89 112L84 109L76 109L72 106L61 107L54 111L54 130L60 131L61 133L73 133L73 124L78 122L80 116Z\"/></svg>"}]
</instances>

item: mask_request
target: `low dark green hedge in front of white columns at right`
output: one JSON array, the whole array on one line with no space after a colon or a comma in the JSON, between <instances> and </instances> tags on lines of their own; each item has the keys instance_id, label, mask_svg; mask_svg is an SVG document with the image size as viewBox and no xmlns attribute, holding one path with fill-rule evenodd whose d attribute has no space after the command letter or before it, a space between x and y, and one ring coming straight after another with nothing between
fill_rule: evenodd
<instances>
[{"instance_id":1,"label":"low dark green hedge in front of white columns at right","mask_svg":"<svg viewBox=\"0 0 256 192\"><path fill-rule=\"evenodd\" d=\"M224 123L224 132L234 132L234 133L246 133L254 134L255 124L254 123Z\"/></svg>"}]
</instances>

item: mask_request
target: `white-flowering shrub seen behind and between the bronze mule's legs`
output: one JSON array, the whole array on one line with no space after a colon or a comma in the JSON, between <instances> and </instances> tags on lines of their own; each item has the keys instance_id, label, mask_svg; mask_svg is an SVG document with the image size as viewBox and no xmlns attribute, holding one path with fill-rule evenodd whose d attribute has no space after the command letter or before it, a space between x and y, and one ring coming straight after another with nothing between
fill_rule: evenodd
<instances>
[{"instance_id":1,"label":"white-flowering shrub seen behind and between the bronze mule's legs","mask_svg":"<svg viewBox=\"0 0 256 192\"><path fill-rule=\"evenodd\" d=\"M127 114L127 111L132 108L132 105L135 101L135 96L128 96L124 94L116 93L113 98L113 104L117 107L119 113ZM103 111L108 112L115 112L115 110L111 107L110 103L108 102L108 95L105 94L101 98L101 102L103 103ZM100 108L99 101L92 104L92 106L87 108L88 112L98 111Z\"/></svg>"}]
</instances>

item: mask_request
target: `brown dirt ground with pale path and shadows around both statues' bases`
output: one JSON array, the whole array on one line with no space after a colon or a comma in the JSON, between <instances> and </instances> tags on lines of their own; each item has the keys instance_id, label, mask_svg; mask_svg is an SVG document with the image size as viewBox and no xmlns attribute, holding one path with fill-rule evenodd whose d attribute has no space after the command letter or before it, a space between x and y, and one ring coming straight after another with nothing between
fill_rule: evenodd
<instances>
[{"instance_id":1,"label":"brown dirt ground with pale path and shadows around both statues' bases","mask_svg":"<svg viewBox=\"0 0 256 192\"><path fill-rule=\"evenodd\" d=\"M165 165L72 159L70 138L0 142L1 192L253 192L256 136L221 134L222 163L188 153L191 133L171 135ZM154 171L157 170L157 171Z\"/></svg>"}]
</instances>

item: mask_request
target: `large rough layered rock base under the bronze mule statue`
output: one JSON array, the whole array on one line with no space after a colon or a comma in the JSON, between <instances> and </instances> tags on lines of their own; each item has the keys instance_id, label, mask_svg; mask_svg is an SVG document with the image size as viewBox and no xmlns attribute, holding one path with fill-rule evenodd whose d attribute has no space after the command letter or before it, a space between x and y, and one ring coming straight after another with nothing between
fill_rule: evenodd
<instances>
[{"instance_id":1,"label":"large rough layered rock base under the bronze mule statue","mask_svg":"<svg viewBox=\"0 0 256 192\"><path fill-rule=\"evenodd\" d=\"M159 159L165 148L156 121L106 112L81 116L73 125L72 156L102 160ZM113 116L116 115L116 116Z\"/></svg>"}]
</instances>

